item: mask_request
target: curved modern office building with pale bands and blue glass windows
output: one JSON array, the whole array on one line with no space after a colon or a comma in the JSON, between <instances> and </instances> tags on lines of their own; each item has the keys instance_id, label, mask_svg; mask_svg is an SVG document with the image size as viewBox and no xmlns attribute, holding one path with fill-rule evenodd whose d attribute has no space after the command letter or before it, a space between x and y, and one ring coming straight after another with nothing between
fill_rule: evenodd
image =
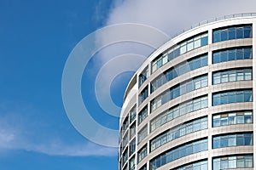
<instances>
[{"instance_id":1,"label":"curved modern office building with pale bands and blue glass windows","mask_svg":"<svg viewBox=\"0 0 256 170\"><path fill-rule=\"evenodd\" d=\"M151 54L125 91L119 170L253 169L255 37L256 14L234 14Z\"/></svg>"}]
</instances>

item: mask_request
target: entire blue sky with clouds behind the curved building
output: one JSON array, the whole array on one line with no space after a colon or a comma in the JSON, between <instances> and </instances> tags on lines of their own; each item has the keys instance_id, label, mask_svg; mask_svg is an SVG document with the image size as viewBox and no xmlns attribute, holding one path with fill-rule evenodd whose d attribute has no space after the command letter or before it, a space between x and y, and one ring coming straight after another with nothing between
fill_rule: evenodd
<instances>
[{"instance_id":1,"label":"entire blue sky with clouds behind the curved building","mask_svg":"<svg viewBox=\"0 0 256 170\"><path fill-rule=\"evenodd\" d=\"M117 35L136 37L142 32L120 29L102 36L99 29L137 23L172 37L201 20L248 12L256 12L255 0L0 0L0 169L118 168L117 148L107 147L104 142L108 139L100 139L99 144L85 138L69 120L62 100L61 81L67 60L91 33L95 36L92 44L102 45ZM166 39L149 37L149 41L161 44ZM108 100L105 95L110 94L120 109L125 87L143 62L139 56L145 59L154 48L123 39L98 50L84 66L83 102L99 125L118 131L118 113L105 111L99 100ZM137 54L139 62L115 58L123 54ZM97 87L96 78L104 66L104 78ZM116 71L118 68L125 70Z\"/></svg>"}]
</instances>

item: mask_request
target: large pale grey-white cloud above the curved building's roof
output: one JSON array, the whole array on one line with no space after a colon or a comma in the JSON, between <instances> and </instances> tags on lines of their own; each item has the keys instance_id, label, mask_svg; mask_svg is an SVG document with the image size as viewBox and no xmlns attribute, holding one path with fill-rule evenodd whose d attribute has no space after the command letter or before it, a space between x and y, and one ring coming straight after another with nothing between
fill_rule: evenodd
<instances>
[{"instance_id":1,"label":"large pale grey-white cloud above the curved building's roof","mask_svg":"<svg viewBox=\"0 0 256 170\"><path fill-rule=\"evenodd\" d=\"M158 42L156 44L163 44L167 42L170 37L177 34L178 31L187 29L190 26L195 25L203 20L211 20L215 17L220 17L227 14L239 14L256 12L255 0L115 0L115 8L111 10L106 20L106 26L124 23L136 23L143 24L145 26L152 26L160 31L166 33L169 38L160 36L160 34L148 33L139 29L113 29L112 31L106 31L102 34L96 35L96 42L112 42L115 44L104 48L101 53L101 61L103 64L107 63L110 59L113 59L117 55L122 54L141 54L147 57L151 54L155 48L142 48L142 44L133 41L127 43L125 40L127 37L141 37L145 33L147 38L143 37L142 40L149 40L149 42ZM150 39L151 38L151 39ZM132 39L132 38L131 38ZM137 63L141 65L143 61ZM102 64L102 65L103 65ZM130 66L134 63L120 62L119 66ZM117 69L116 67L109 67L109 72ZM106 72L107 74L107 72ZM110 75L105 75L106 78ZM108 92L109 89L104 84L99 87L102 91ZM108 93L102 93L108 94Z\"/></svg>"}]
</instances>

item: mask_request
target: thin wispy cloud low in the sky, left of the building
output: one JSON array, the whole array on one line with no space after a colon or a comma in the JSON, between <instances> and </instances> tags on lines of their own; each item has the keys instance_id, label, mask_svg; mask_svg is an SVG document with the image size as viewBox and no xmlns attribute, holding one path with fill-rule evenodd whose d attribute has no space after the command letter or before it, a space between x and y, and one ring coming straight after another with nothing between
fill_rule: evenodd
<instances>
[{"instance_id":1,"label":"thin wispy cloud low in the sky, left of the building","mask_svg":"<svg viewBox=\"0 0 256 170\"><path fill-rule=\"evenodd\" d=\"M47 119L35 118L40 115L43 117L43 113L38 115L35 110L27 110L27 107L25 109L21 105L19 111L8 107L9 105L6 107L0 105L0 153L1 150L26 150L49 156L116 156L117 154L116 148L94 144L80 136L78 140L70 140L68 136L55 135L58 130L54 127L63 122L55 122L55 125L51 125ZM63 116L66 116L65 113ZM73 129L73 132L68 133L77 132Z\"/></svg>"}]
</instances>

